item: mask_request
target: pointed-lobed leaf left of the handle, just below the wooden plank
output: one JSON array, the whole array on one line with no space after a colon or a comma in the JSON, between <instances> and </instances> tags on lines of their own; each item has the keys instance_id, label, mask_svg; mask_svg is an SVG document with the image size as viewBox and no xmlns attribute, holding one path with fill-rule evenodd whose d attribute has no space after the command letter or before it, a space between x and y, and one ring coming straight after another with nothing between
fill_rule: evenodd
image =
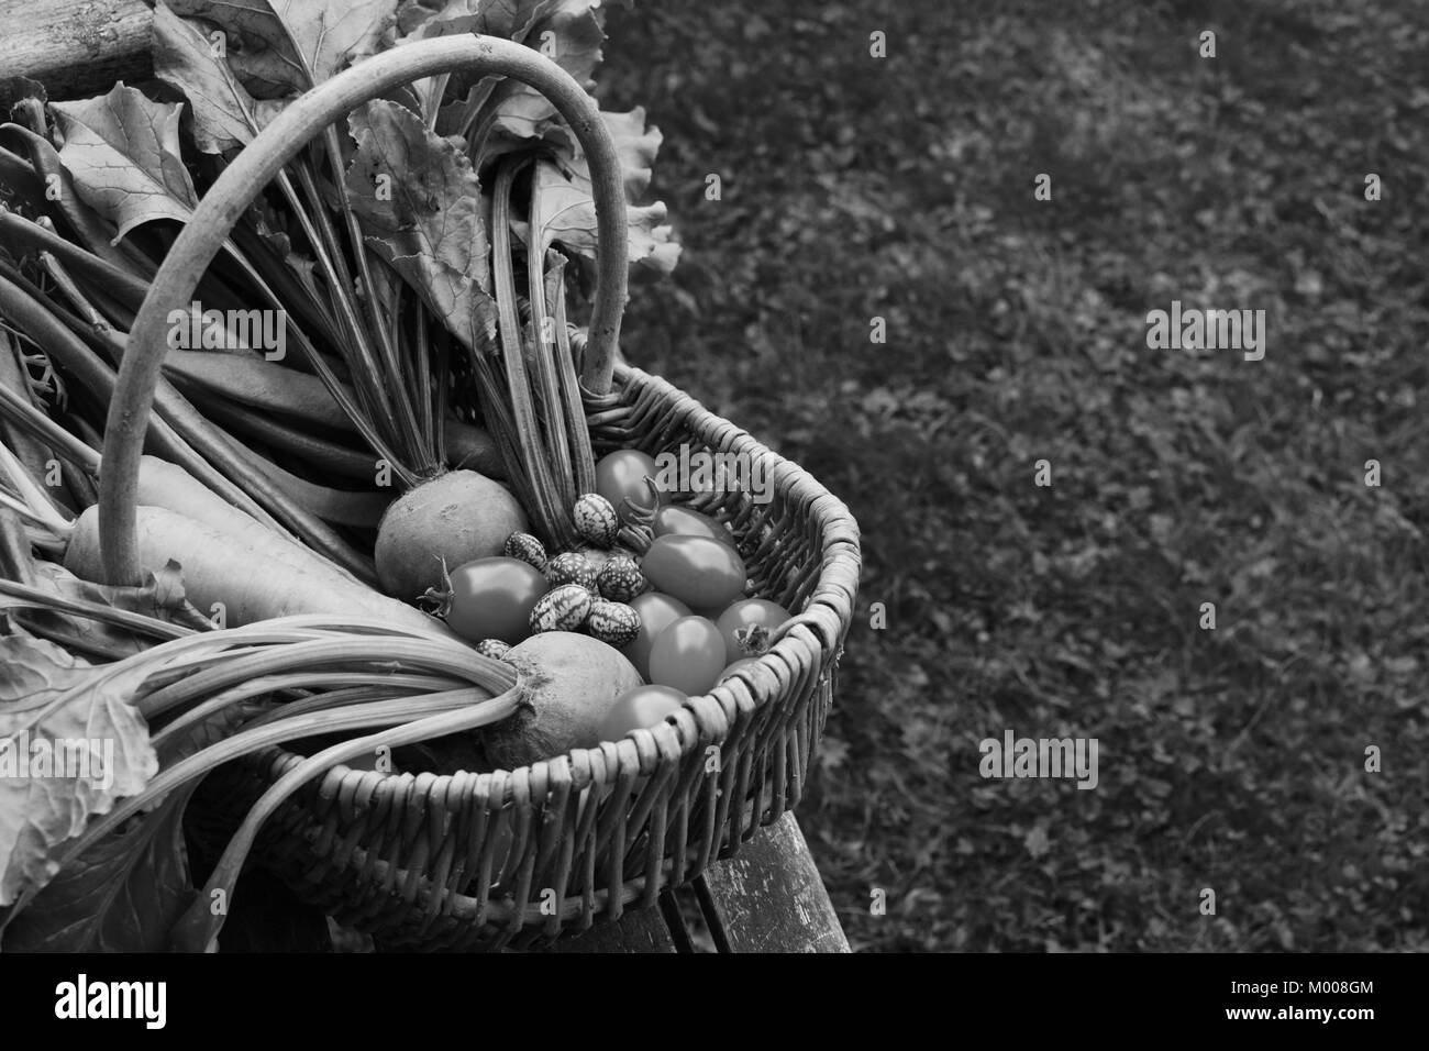
<instances>
[{"instance_id":1,"label":"pointed-lobed leaf left of the handle, just below the wooden plank","mask_svg":"<svg viewBox=\"0 0 1429 1051\"><path fill-rule=\"evenodd\" d=\"M60 160L80 199L117 227L113 243L140 223L187 222L199 196L179 152L181 104L120 82L106 96L50 109L64 136Z\"/></svg>"}]
</instances>

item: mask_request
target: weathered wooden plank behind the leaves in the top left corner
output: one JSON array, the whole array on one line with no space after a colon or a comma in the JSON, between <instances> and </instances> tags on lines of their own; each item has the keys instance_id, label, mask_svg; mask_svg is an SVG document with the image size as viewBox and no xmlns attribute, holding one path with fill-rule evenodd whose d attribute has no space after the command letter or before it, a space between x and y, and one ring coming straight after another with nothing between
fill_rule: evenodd
<instances>
[{"instance_id":1,"label":"weathered wooden plank behind the leaves in the top left corner","mask_svg":"<svg viewBox=\"0 0 1429 1051\"><path fill-rule=\"evenodd\" d=\"M151 23L144 0L0 0L0 77L39 80L51 99L147 80Z\"/></svg>"}]
</instances>

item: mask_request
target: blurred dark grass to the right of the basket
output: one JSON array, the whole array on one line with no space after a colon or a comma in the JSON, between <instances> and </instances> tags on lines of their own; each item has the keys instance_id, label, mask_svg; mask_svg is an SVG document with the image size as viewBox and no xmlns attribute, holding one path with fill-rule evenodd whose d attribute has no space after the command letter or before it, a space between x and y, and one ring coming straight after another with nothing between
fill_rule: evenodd
<instances>
[{"instance_id":1,"label":"blurred dark grass to the right of the basket","mask_svg":"<svg viewBox=\"0 0 1429 1051\"><path fill-rule=\"evenodd\" d=\"M647 0L607 31L684 243L627 356L863 528L799 812L855 948L1429 949L1429 9ZM1173 299L1266 310L1265 360L1147 350ZM1096 736L1099 788L983 781L1006 728Z\"/></svg>"}]
</instances>

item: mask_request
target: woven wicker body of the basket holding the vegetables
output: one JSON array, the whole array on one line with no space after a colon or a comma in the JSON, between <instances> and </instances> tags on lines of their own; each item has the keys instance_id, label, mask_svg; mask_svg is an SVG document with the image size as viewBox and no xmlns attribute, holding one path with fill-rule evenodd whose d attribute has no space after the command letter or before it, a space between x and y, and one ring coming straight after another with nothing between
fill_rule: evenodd
<instances>
[{"instance_id":1,"label":"woven wicker body of the basket holding the vegetables","mask_svg":"<svg viewBox=\"0 0 1429 1051\"><path fill-rule=\"evenodd\" d=\"M534 56L506 41L456 37L397 50L410 56L417 49L433 56L430 70L443 63L447 70L479 61L499 66L512 49L524 53L520 63ZM522 79L542 89L540 77ZM352 92L342 97L349 109L363 100ZM263 136L290 132L273 126ZM593 164L600 160L599 152L587 153ZM609 220L610 202L597 204ZM177 256L181 263L174 266L201 273L236 214L206 216L200 204L170 262ZM227 227L190 235L200 219ZM193 249L186 237L204 243ZM181 247L190 249L187 257ZM151 300L164 299L160 287L171 287L163 277L161 272ZM623 302L623 273L620 279ZM597 287L593 339L599 296ZM170 306L146 300L134 332L166 316ZM126 359L126 369L144 367L133 353L143 345L134 337L136 360ZM587 392L597 455L612 448L656 455L687 445L763 462L773 490L767 503L742 492L710 492L692 506L733 526L756 593L796 615L757 665L624 741L492 774L337 766L300 789L269 819L254 857L299 897L383 945L490 949L584 929L597 914L617 918L627 907L653 905L662 885L690 879L733 854L756 825L776 821L799 802L850 625L857 525L799 466L664 380L624 366L614 366L613 379L609 393ZM126 378L121 370L117 396L130 390L147 415L146 383L151 393L147 378ZM106 465L137 456L126 445L131 442L106 435ZM101 492L101 512L104 498ZM216 774L210 788L220 791L206 795L247 806L299 762L284 749L256 754Z\"/></svg>"}]
</instances>

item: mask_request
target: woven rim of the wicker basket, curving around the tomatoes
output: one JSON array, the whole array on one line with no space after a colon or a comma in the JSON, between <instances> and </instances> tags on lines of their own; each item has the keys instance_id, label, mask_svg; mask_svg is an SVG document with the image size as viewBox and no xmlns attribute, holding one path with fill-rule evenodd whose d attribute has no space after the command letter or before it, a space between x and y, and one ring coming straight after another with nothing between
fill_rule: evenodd
<instances>
[{"instance_id":1,"label":"woven rim of the wicker basket, curving around the tomatoes","mask_svg":"<svg viewBox=\"0 0 1429 1051\"><path fill-rule=\"evenodd\" d=\"M845 526L846 536L843 539L832 541L825 545L823 563L819 569L819 586L816 586L810 593L806 608L790 616L783 629L776 633L775 642L770 648L756 658L757 663L747 672L750 678L756 678L759 675L769 675L776 679L782 679L783 676L797 678L800 675L800 661L796 655L797 649L792 642L795 632L803 628L805 631L813 633L812 629L819 626L819 618L815 615L815 606L820 605L819 593L825 585L832 583L833 586L837 586L840 571L842 575L849 575L852 572L853 581L857 581L860 569L859 528L852 512L849 512L843 500L830 493L807 470L800 468L793 460L780 456L773 449L755 439L747 430L737 428L737 425L722 416L714 415L699 400L684 393L669 380L643 372L642 369L617 363L614 369L612 396L617 392L623 392L629 386L634 386L636 389L652 388L656 393L673 396L679 412L689 418L689 426L692 430L699 429L699 425L707 423L735 428L735 433L730 436L733 448L750 456L769 458L772 472L770 476L775 478L776 486L787 489L795 485L805 485L809 488L812 496L810 503L816 502L819 505L817 509L812 512L812 516L823 519L820 520L822 533L827 535L835 532L830 529L833 525ZM697 423L693 420L697 420ZM780 469L783 469L782 475L777 473ZM836 649L842 649L842 641L847 633L850 618L837 615L836 611L835 613L837 616L839 638L833 645ZM815 643L817 643L817 636L815 636ZM813 648L817 649L819 646L815 645ZM540 759L514 769L499 768L486 772L457 771L454 774L407 771L397 774L353 769L346 764L336 764L317 784L326 792L340 788L342 784L350 778L373 785L383 782L414 782L417 778L423 778L426 782L426 791L437 798L446 795L453 788L463 792L472 792L480 786L486 789L482 795L494 804L492 806L492 811L494 812L504 809L504 806L513 801L517 785L522 782L536 782L537 785L546 785L549 788L569 779L572 789L584 791L587 786L597 782L614 782L622 774L630 774L633 776L647 775L653 772L662 756L670 759L684 759L697 748L704 749L710 745L723 744L727 739L730 726L742 708L747 711L759 711L760 708L773 704L782 692L752 689L752 684L746 681L745 675L746 672L743 671L736 672L735 676L716 685L709 692L687 698L679 712L672 712L657 726L634 729L620 741L603 741L592 748L574 748L569 752L553 755L547 759ZM702 732L702 728L704 732ZM302 758L297 752L292 752L280 745L262 749L257 755L274 756L279 761L286 761L290 756L294 759ZM500 779L499 795L492 792L497 779ZM496 802L497 799L499 804Z\"/></svg>"}]
</instances>

